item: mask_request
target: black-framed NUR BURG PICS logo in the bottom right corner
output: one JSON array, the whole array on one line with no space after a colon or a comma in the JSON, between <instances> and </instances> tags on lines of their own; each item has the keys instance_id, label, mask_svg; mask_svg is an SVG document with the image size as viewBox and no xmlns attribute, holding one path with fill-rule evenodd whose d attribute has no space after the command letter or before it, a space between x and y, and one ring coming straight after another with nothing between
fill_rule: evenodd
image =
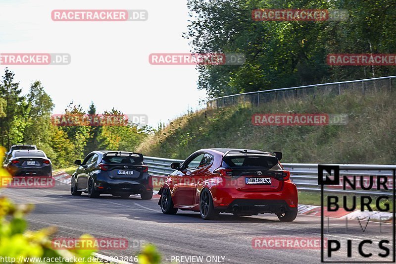
<instances>
[{"instance_id":1,"label":"black-framed NUR BURG PICS logo in the bottom right corner","mask_svg":"<svg viewBox=\"0 0 396 264\"><path fill-rule=\"evenodd\" d=\"M342 170L347 170L347 175L340 175L340 166L339 165L318 165L318 185L321 186L321 262L322 263L395 263L396 255L395 255L395 168L389 167L378 167L378 168L342 168ZM362 173L361 171L364 170ZM365 173L366 171L373 172L372 170L381 171L381 172L391 172L392 176L387 175L373 175L374 173L370 173L369 176ZM325 175L326 174L326 175ZM344 174L344 173L341 173ZM360 174L360 175L356 175ZM363 178L369 177L369 184L364 184ZM340 179L341 178L341 179ZM392 188L388 188L391 185ZM329 189L325 190L328 195L324 196L324 186L328 188L332 187L340 187L338 191L341 189L344 191L352 191L349 192L351 194L346 195L344 192L342 193L342 200L339 201L340 192L329 192ZM381 194L379 194L381 192ZM386 194L384 194L386 192ZM363 193L363 194L362 194ZM338 194L338 195L337 195ZM370 196L372 195L372 196ZM325 199L327 198L327 199ZM350 206L350 203L352 205ZM360 202L360 206L356 204L356 201ZM388 204L381 204L381 201L393 201L393 208ZM344 202L344 203L342 203ZM345 210L353 212L355 209L358 211L366 211L359 214L367 213L367 211L373 211L373 207L376 206L375 211L380 212L391 212L393 213L392 225L383 224L385 227L389 227L390 230L381 233L375 233L375 227L380 226L381 222L370 222L370 217L368 217L368 221L364 222L365 219L363 217L362 220L359 220L359 217L356 217L357 221L353 221L354 225L359 228L355 236L351 234L350 231L346 233L345 238L341 236L340 224L338 226L334 226L335 230L338 230L337 235L328 235L324 236L324 212L328 213L337 213L337 211ZM366 217L367 218L367 217ZM327 217L327 233L329 233L329 217ZM334 219L332 219L334 220ZM341 219L338 219L341 220ZM343 220L344 221L344 220ZM346 223L348 219L346 218ZM356 224L358 222L358 225ZM369 225L369 223L371 225ZM376 225L375 225L376 224ZM348 230L348 225L346 226ZM369 228L374 230L375 236L370 236ZM380 229L381 230L381 229ZM369 232L367 232L369 231ZM334 233L333 233L334 234ZM377 239L377 240L376 240ZM324 242L327 240L327 247L324 248ZM353 261L352 261L353 258ZM358 260L358 261L356 261ZM374 261L375 260L375 261Z\"/></svg>"}]
</instances>

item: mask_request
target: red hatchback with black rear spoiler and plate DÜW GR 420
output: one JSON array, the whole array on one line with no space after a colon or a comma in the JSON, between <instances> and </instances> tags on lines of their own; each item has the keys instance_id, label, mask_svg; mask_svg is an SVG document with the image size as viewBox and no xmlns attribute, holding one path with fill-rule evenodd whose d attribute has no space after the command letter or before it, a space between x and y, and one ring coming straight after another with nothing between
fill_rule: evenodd
<instances>
[{"instance_id":1,"label":"red hatchback with black rear spoiler and plate D\u00dcW GR 420","mask_svg":"<svg viewBox=\"0 0 396 264\"><path fill-rule=\"evenodd\" d=\"M279 160L281 152L243 149L202 149L182 164L159 190L165 214L199 211L203 219L220 212L235 215L275 213L283 222L297 216L297 187Z\"/></svg>"}]
</instances>

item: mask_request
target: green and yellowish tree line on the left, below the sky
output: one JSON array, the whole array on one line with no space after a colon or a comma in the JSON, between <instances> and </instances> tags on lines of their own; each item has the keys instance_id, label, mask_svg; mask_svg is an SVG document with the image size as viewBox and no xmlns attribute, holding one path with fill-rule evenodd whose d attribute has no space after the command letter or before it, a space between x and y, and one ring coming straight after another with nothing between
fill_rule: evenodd
<instances>
[{"instance_id":1,"label":"green and yellowish tree line on the left, below the sky","mask_svg":"<svg viewBox=\"0 0 396 264\"><path fill-rule=\"evenodd\" d=\"M152 129L127 122L117 126L58 126L51 120L54 104L40 81L34 81L29 93L22 94L14 73L5 68L0 81L0 145L34 144L52 160L54 167L66 167L93 150L134 151ZM87 110L71 102L66 116L97 115L91 103ZM123 115L117 109L103 115Z\"/></svg>"}]
</instances>

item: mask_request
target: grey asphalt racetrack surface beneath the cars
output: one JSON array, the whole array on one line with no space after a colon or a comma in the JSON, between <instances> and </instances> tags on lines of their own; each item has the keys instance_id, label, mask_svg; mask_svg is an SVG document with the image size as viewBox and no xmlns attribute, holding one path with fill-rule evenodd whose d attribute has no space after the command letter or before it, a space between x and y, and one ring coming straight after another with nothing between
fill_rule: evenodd
<instances>
[{"instance_id":1,"label":"grey asphalt racetrack surface beneath the cars","mask_svg":"<svg viewBox=\"0 0 396 264\"><path fill-rule=\"evenodd\" d=\"M253 238L320 238L318 216L299 214L295 221L283 223L274 214L238 217L222 213L217 220L203 220L199 213L190 211L165 215L157 205L157 198L147 201L141 200L140 196L121 199L101 195L91 199L84 193L80 197L71 196L70 185L60 182L52 188L3 188L0 192L17 204L35 205L34 211L27 215L29 229L53 225L58 227L56 237L77 238L88 233L98 238L128 239L127 250L99 250L106 256L133 257L141 244L152 243L161 253L163 263L169 263L172 256L173 260L176 256L202 256L203 261L199 263L209 263L212 256L219 256L220 263L227 264L320 263L320 249L252 247ZM362 231L366 223L366 229ZM326 218L324 232L328 239L349 238L352 241L352 258L345 257L346 245L342 245L337 256L345 261L361 261L357 255L360 240L374 241L371 247L365 245L364 249L379 260L376 254L383 251L378 249L375 241L393 231L391 224L350 220L346 226L344 219ZM391 241L391 255L392 246ZM197 263L180 260L183 260L181 263Z\"/></svg>"}]
</instances>

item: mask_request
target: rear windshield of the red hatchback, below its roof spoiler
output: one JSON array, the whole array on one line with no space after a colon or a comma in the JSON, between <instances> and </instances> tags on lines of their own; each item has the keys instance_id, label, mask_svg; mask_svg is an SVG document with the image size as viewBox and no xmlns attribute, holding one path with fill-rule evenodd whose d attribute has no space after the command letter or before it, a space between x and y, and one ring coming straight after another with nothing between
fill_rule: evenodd
<instances>
[{"instance_id":1,"label":"rear windshield of the red hatchback, below its roof spoiler","mask_svg":"<svg viewBox=\"0 0 396 264\"><path fill-rule=\"evenodd\" d=\"M266 156L231 156L225 157L224 162L230 167L254 167L263 169L281 169L278 158Z\"/></svg>"}]
</instances>

